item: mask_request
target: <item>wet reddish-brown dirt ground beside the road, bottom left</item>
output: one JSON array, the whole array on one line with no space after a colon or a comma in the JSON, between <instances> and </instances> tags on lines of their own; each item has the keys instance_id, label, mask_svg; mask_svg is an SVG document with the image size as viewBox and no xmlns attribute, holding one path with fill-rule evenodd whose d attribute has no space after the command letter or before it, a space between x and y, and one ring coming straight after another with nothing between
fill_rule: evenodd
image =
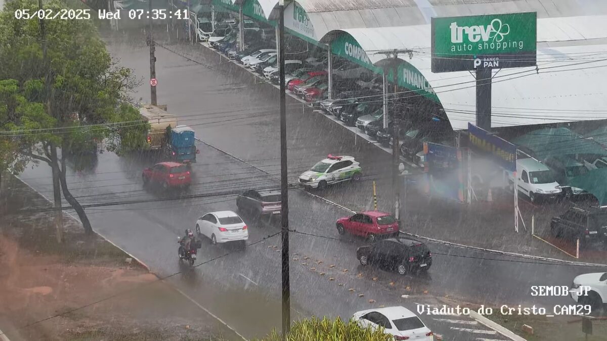
<instances>
[{"instance_id":1,"label":"wet reddish-brown dirt ground beside the road, bottom left","mask_svg":"<svg viewBox=\"0 0 607 341\"><path fill-rule=\"evenodd\" d=\"M15 178L0 191L0 329L16 340L236 339L212 317L98 235L53 213Z\"/></svg>"}]
</instances>

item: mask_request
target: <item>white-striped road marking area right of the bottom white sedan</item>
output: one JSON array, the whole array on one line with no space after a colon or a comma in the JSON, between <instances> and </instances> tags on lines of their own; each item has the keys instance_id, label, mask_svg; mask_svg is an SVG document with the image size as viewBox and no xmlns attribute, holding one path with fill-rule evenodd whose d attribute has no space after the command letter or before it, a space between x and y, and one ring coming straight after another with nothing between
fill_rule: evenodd
<instances>
[{"instance_id":1,"label":"white-striped road marking area right of the bottom white sedan","mask_svg":"<svg viewBox=\"0 0 607 341\"><path fill-rule=\"evenodd\" d=\"M416 305L422 305L421 303L415 302ZM442 308L437 305L425 305L430 308ZM450 311L450 309L444 309ZM480 323L472 317L465 314L449 314L444 315L435 314L427 315L427 322L432 320L432 324L436 325L431 328L435 331L437 340L470 340L470 341L508 341L509 337L506 337L497 331L489 328L483 323ZM443 333L441 333L443 332Z\"/></svg>"}]
</instances>

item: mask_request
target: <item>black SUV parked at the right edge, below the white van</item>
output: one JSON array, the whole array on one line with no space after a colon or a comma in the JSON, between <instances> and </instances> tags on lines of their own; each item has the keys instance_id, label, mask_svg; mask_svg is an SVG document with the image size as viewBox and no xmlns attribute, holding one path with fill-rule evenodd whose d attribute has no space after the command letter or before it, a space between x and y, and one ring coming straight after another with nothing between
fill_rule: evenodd
<instances>
[{"instance_id":1,"label":"black SUV parked at the right edge, below the white van","mask_svg":"<svg viewBox=\"0 0 607 341\"><path fill-rule=\"evenodd\" d=\"M600 208L570 208L567 212L550 221L550 231L554 237L575 241L580 245L589 241L607 240L607 210Z\"/></svg>"}]
</instances>

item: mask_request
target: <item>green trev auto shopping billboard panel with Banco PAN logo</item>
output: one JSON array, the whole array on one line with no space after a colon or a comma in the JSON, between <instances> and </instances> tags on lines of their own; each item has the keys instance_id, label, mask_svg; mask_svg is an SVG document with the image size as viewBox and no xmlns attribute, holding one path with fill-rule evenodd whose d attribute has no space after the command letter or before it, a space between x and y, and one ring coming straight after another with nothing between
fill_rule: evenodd
<instances>
[{"instance_id":1,"label":"green trev auto shopping billboard panel with Banco PAN logo","mask_svg":"<svg viewBox=\"0 0 607 341\"><path fill-rule=\"evenodd\" d=\"M535 66L537 13L432 18L432 72Z\"/></svg>"}]
</instances>

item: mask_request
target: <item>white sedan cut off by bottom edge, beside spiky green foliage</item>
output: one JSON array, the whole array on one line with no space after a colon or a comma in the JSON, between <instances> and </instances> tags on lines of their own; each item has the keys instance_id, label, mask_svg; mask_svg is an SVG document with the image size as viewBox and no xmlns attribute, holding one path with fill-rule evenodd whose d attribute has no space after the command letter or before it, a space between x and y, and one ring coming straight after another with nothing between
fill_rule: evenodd
<instances>
[{"instance_id":1,"label":"white sedan cut off by bottom edge, beside spiky green foliage","mask_svg":"<svg viewBox=\"0 0 607 341\"><path fill-rule=\"evenodd\" d=\"M355 312L352 319L362 328L384 328L395 340L434 340L434 334L412 311L402 306Z\"/></svg>"}]
</instances>

